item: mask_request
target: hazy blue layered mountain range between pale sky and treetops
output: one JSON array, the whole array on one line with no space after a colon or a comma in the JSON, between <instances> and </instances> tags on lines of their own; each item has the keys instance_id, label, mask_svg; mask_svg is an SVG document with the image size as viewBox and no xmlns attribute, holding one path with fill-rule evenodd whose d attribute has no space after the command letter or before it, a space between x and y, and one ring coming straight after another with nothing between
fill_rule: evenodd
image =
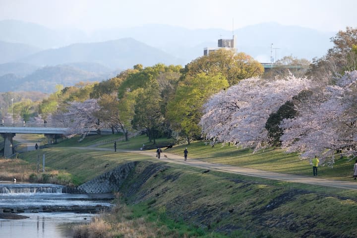
<instances>
[{"instance_id":1,"label":"hazy blue layered mountain range between pale sky and treetops","mask_svg":"<svg viewBox=\"0 0 357 238\"><path fill-rule=\"evenodd\" d=\"M59 81L73 85L79 80L105 80L138 63L183 66L202 56L204 47L217 47L218 39L233 37L232 32L222 29L189 30L168 25L107 29L88 35L17 20L0 21L0 32L0 91L23 85L41 89L45 83L43 92L53 91L52 85ZM269 62L270 57L290 55L307 60L322 57L332 47L330 38L336 32L265 23L235 29L234 34L238 51Z\"/></svg>"}]
</instances>

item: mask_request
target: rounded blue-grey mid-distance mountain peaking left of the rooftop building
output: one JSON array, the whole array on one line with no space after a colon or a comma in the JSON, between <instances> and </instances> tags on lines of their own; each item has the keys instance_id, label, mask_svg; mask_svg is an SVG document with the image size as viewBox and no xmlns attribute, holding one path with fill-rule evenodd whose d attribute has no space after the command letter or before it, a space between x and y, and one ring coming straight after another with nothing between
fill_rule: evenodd
<instances>
[{"instance_id":1,"label":"rounded blue-grey mid-distance mountain peaking left of the rooftop building","mask_svg":"<svg viewBox=\"0 0 357 238\"><path fill-rule=\"evenodd\" d=\"M183 62L183 60L132 38L99 43L77 43L58 49L41 51L17 61L39 66L92 62L112 69L127 69L138 63L152 65L155 63L180 64Z\"/></svg>"}]
</instances>

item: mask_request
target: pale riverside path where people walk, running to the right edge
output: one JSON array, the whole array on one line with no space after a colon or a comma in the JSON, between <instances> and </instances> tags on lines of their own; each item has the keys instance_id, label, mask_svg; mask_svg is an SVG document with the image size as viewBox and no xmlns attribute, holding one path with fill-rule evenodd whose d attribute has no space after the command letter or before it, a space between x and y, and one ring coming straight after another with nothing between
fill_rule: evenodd
<instances>
[{"instance_id":1,"label":"pale riverside path where people walk, running to the right edge","mask_svg":"<svg viewBox=\"0 0 357 238\"><path fill-rule=\"evenodd\" d=\"M72 147L72 148L86 149L86 150L114 151L114 149L96 148L96 147ZM138 153L138 154L148 155L156 158L156 151L117 150L116 153L120 153L120 151ZM164 155L166 155L168 158L166 159ZM194 166L206 170L216 170L216 171L228 172L228 173L251 176L251 177L259 177L264 179L275 179L275 180L283 180L289 182L300 182L300 183L307 183L307 184L320 185L320 186L357 190L357 181L353 180L352 176L351 176L351 181L342 181L342 180L333 180L333 179L321 179L318 177L313 177L312 175L311 177L299 176L299 175L287 175L287 174L275 173L270 171L236 167L231 165L215 164L215 163L204 162L204 161L190 159L190 158L187 158L187 161L184 161L183 151L182 151L182 156L166 153L165 151L163 151L163 153L161 153L160 159L157 160L165 161L168 163ZM312 174L312 168L311 168L311 174Z\"/></svg>"}]
</instances>

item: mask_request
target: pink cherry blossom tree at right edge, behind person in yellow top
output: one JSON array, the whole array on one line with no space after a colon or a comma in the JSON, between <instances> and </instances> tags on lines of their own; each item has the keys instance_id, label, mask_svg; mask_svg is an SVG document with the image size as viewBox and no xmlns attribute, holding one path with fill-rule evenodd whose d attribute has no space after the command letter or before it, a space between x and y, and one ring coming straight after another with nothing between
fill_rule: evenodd
<instances>
[{"instance_id":1,"label":"pink cherry blossom tree at right edge, behind person in yellow top","mask_svg":"<svg viewBox=\"0 0 357 238\"><path fill-rule=\"evenodd\" d=\"M320 156L333 165L337 151L357 156L357 71L347 72L296 105L298 116L285 119L282 145L301 158Z\"/></svg>"}]
</instances>

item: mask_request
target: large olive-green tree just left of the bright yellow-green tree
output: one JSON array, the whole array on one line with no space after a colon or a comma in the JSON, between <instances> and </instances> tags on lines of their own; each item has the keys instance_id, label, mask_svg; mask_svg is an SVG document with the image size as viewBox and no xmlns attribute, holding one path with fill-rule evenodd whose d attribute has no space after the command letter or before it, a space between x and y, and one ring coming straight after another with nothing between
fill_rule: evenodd
<instances>
[{"instance_id":1,"label":"large olive-green tree just left of the bright yellow-green tree","mask_svg":"<svg viewBox=\"0 0 357 238\"><path fill-rule=\"evenodd\" d=\"M146 68L136 65L134 68L137 71L127 74L119 86L118 97L120 102L124 102L120 105L125 106L126 110L134 105L134 115L125 113L127 118L132 116L132 127L135 129L145 128L149 140L154 140L156 143L155 139L158 136L162 136L164 133L171 134L170 123L165 120L164 115L168 101L175 94L181 66L156 64ZM150 95L150 98L143 95L143 92ZM135 103L132 101L134 98ZM152 105L155 107L151 108ZM157 110L159 111L156 112ZM149 122L145 120L149 120Z\"/></svg>"}]
</instances>

